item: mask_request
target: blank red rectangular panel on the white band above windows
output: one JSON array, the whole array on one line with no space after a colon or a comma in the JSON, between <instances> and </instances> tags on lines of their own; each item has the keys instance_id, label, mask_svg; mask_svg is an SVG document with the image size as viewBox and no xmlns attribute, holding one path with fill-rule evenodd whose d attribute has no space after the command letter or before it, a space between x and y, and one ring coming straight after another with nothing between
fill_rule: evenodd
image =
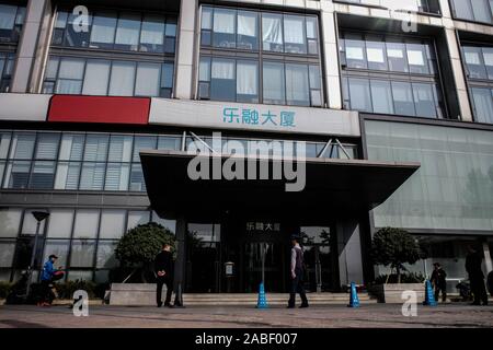
<instances>
[{"instance_id":1,"label":"blank red rectangular panel on the white band above windows","mask_svg":"<svg viewBox=\"0 0 493 350\"><path fill-rule=\"evenodd\" d=\"M150 98L55 95L48 121L147 125Z\"/></svg>"}]
</instances>

